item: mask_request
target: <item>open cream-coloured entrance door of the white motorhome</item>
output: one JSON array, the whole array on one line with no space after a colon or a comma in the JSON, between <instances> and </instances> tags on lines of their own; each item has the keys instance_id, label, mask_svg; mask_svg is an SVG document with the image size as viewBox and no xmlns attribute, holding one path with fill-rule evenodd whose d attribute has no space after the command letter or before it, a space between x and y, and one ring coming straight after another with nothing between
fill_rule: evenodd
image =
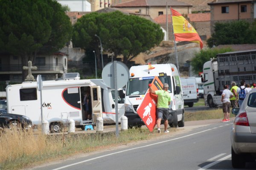
<instances>
[{"instance_id":1,"label":"open cream-coloured entrance door of the white motorhome","mask_svg":"<svg viewBox=\"0 0 256 170\"><path fill-rule=\"evenodd\" d=\"M98 117L102 118L100 86L91 86L90 93L91 93L91 100L92 100L93 123L96 123Z\"/></svg>"}]
</instances>

